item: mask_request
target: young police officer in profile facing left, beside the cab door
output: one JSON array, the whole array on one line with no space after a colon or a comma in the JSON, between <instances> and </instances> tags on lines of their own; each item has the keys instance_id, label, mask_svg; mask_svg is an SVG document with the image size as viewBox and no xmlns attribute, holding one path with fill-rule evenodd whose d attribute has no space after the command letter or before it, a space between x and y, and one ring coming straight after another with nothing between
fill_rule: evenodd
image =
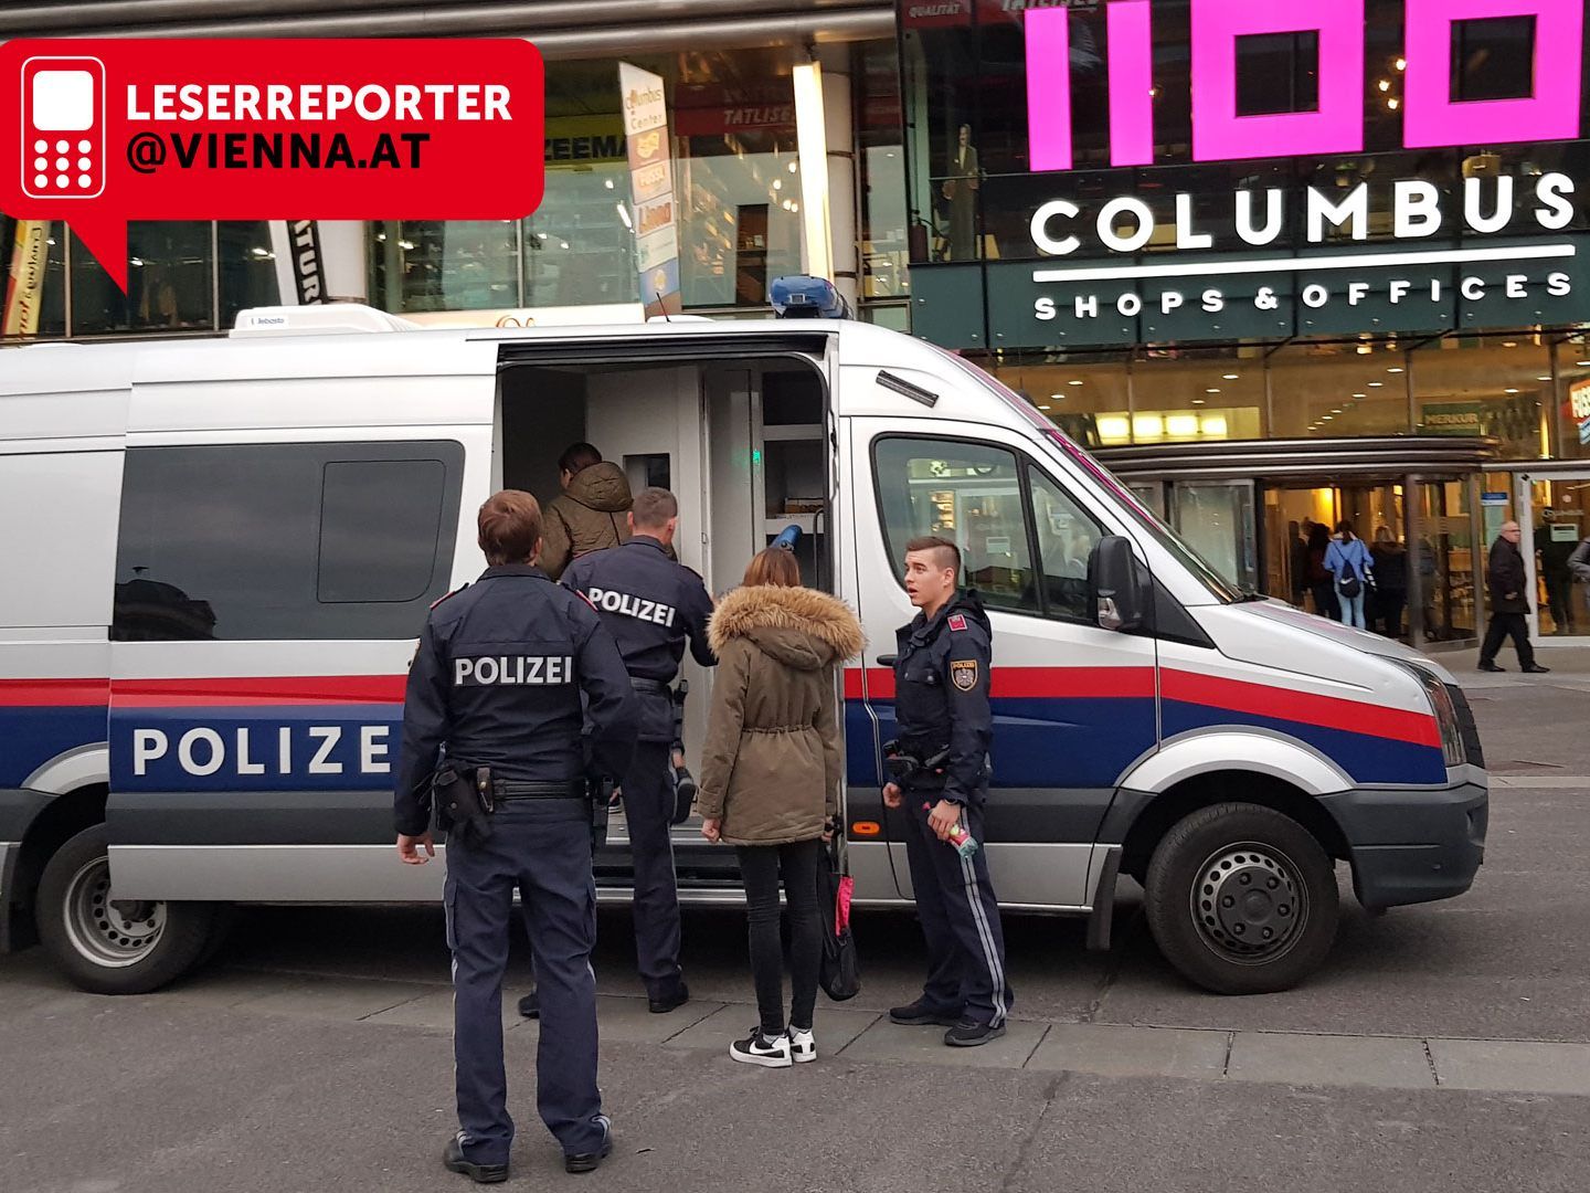
<instances>
[{"instance_id":1,"label":"young police officer in profile facing left, beside the cab door","mask_svg":"<svg viewBox=\"0 0 1590 1193\"><path fill-rule=\"evenodd\" d=\"M921 612L897 633L895 716L884 803L903 808L911 889L927 937L922 996L895 1023L937 1023L944 1043L971 1048L1005 1034L1014 996L987 856L964 857L959 829L983 841L989 794L991 630L975 592L957 592L960 550L927 536L906 544L905 587Z\"/></svg>"}]
</instances>

